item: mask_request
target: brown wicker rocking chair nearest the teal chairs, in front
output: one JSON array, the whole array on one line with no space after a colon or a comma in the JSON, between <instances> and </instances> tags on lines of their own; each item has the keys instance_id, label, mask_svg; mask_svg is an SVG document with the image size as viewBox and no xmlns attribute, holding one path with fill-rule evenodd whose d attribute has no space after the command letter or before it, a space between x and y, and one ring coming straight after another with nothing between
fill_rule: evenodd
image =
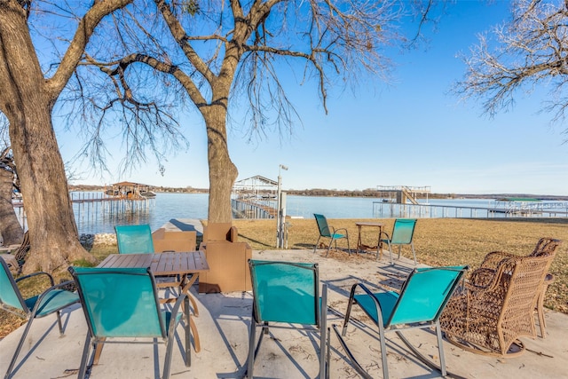
<instances>
[{"instance_id":1,"label":"brown wicker rocking chair nearest the teal chairs, in front","mask_svg":"<svg viewBox=\"0 0 568 379\"><path fill-rule=\"evenodd\" d=\"M490 253L487 259L494 256ZM534 307L553 257L547 253L539 257L504 257L493 277L485 272L485 285L466 282L440 318L448 341L490 356L523 353L525 346L518 338L536 336Z\"/></svg>"}]
</instances>

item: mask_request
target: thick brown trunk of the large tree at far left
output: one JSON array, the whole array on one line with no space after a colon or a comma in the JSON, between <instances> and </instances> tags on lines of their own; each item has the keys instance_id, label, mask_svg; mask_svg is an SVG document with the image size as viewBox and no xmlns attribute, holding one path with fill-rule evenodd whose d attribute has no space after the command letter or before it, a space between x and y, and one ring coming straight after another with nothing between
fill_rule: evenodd
<instances>
[{"instance_id":1,"label":"thick brown trunk of the large tree at far left","mask_svg":"<svg viewBox=\"0 0 568 379\"><path fill-rule=\"evenodd\" d=\"M28 215L31 249L24 272L58 272L79 259L94 262L79 242L51 123L57 95L46 88L25 12L2 3L0 83L0 111L10 123L12 152Z\"/></svg>"}]
</instances>

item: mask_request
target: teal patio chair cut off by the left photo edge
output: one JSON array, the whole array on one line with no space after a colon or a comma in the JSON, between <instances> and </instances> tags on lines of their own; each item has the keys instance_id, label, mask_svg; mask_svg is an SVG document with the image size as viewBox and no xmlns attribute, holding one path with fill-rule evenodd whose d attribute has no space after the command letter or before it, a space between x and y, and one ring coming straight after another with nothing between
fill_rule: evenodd
<instances>
[{"instance_id":1,"label":"teal patio chair cut off by the left photo edge","mask_svg":"<svg viewBox=\"0 0 568 379\"><path fill-rule=\"evenodd\" d=\"M16 359L18 359L18 355L20 355L21 348L26 341L29 329L32 327L32 322L35 319L55 313L57 315L59 334L63 335L61 310L72 304L79 303L79 296L64 289L69 284L73 284L73 281L66 281L55 285L53 277L47 272L35 272L14 280L12 272L10 272L8 265L6 265L2 258L0 258L0 266L2 266L0 269L0 308L4 309L4 311L17 314L20 317L24 315L24 317L28 319L28 324L20 337L20 342L16 347L16 351L14 351L14 355L4 376L4 378L9 378L16 365ZM50 280L51 287L43 291L41 295L24 298L20 293L17 283L21 280L27 280L39 275L46 276Z\"/></svg>"}]
</instances>

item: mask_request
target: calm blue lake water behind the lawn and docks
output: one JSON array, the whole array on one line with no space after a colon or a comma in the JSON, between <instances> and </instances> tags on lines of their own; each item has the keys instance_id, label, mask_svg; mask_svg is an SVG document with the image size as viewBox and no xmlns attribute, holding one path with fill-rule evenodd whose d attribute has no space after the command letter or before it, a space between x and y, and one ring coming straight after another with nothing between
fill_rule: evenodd
<instances>
[{"instance_id":1,"label":"calm blue lake water behind the lawn and docks","mask_svg":"<svg viewBox=\"0 0 568 379\"><path fill-rule=\"evenodd\" d=\"M88 197L99 193L72 193L72 196ZM109 211L100 203L74 203L75 221L79 233L114 233L114 225L149 224L152 230L158 229L171 218L207 218L208 193L157 193L148 201L144 209ZM425 203L425 200L419 201ZM470 207L477 209L492 208L494 200L489 199L430 199L430 205L448 207ZM397 204L385 204L375 198L360 197L319 197L292 196L287 198L287 214L292 217L311 218L314 213L327 218L374 218L393 217L378 213L377 207L391 208ZM434 208L438 207L421 207ZM464 208L465 209L465 208ZM565 210L565 209L564 209ZM483 212L483 211L482 211ZM427 217L486 217L487 212L470 214L441 214ZM398 217L398 216L394 216ZM400 217L405 217L400 216ZM420 217L414 214L408 217Z\"/></svg>"}]
</instances>

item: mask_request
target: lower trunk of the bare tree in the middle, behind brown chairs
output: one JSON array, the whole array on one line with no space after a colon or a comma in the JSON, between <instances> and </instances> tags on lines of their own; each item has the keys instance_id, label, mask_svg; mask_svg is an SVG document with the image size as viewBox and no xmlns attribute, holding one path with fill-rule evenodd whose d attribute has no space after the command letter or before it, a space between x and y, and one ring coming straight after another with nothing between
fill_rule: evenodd
<instances>
[{"instance_id":1,"label":"lower trunk of the bare tree in the middle, behind brown chairs","mask_svg":"<svg viewBox=\"0 0 568 379\"><path fill-rule=\"evenodd\" d=\"M239 171L229 156L225 107L209 106L202 114L207 126L209 161L208 220L210 223L230 223L233 221L231 192Z\"/></svg>"}]
</instances>

